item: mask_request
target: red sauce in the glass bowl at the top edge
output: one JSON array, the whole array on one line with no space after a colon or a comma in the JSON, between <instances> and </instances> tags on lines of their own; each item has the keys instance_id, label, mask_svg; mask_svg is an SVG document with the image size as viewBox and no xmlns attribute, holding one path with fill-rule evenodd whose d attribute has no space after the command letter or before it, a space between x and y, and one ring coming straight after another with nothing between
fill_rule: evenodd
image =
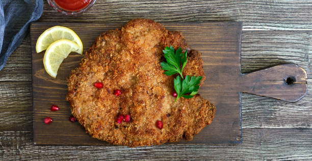
<instances>
[{"instance_id":1,"label":"red sauce in the glass bowl at the top edge","mask_svg":"<svg viewBox=\"0 0 312 161\"><path fill-rule=\"evenodd\" d=\"M77 11L89 5L91 0L54 0L61 8L67 11Z\"/></svg>"}]
</instances>

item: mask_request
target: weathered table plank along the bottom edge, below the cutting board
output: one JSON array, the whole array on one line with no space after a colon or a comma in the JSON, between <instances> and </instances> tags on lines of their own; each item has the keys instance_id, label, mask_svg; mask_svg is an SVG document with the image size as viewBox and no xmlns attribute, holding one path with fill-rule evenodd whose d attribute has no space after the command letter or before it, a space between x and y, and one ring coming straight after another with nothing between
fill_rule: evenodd
<instances>
[{"instance_id":1,"label":"weathered table plank along the bottom edge, below the cutting board","mask_svg":"<svg viewBox=\"0 0 312 161\"><path fill-rule=\"evenodd\" d=\"M0 132L3 160L293 160L312 159L312 128L243 130L240 145L35 146L31 132Z\"/></svg>"}]
</instances>

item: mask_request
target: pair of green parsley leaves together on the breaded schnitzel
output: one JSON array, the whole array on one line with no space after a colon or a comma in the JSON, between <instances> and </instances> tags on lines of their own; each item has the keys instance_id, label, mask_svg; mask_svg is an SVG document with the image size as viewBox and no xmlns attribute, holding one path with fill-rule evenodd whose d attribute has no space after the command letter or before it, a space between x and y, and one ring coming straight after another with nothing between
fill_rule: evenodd
<instances>
[{"instance_id":1,"label":"pair of green parsley leaves together on the breaded schnitzel","mask_svg":"<svg viewBox=\"0 0 312 161\"><path fill-rule=\"evenodd\" d=\"M187 50L184 53L181 48L178 48L174 53L174 48L172 46L165 47L163 50L164 56L167 62L161 62L161 66L163 67L164 74L167 76L171 76L173 74L178 73L179 75L173 81L174 89L176 91L176 99L174 102L179 99L181 96L184 98L192 98L198 92L199 83L202 79L201 76L185 76L183 78L182 71L188 62Z\"/></svg>"}]
</instances>

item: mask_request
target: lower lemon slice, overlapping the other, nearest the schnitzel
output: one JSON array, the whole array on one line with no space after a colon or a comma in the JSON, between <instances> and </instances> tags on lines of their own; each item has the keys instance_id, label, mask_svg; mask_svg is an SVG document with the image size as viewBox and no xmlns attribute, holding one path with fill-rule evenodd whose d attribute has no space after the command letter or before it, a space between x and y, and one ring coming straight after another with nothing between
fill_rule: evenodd
<instances>
[{"instance_id":1,"label":"lower lemon slice, overlapping the other, nearest the schnitzel","mask_svg":"<svg viewBox=\"0 0 312 161\"><path fill-rule=\"evenodd\" d=\"M69 55L70 52L76 52L79 49L79 45L67 39L61 39L52 43L46 49L43 57L45 71L51 77L56 78L62 61Z\"/></svg>"}]
</instances>

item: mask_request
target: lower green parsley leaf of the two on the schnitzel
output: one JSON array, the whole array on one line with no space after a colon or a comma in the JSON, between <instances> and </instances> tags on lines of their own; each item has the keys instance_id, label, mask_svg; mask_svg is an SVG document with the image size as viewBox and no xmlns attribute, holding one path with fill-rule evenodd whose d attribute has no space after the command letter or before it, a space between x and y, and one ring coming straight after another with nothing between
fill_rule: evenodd
<instances>
[{"instance_id":1,"label":"lower green parsley leaf of the two on the schnitzel","mask_svg":"<svg viewBox=\"0 0 312 161\"><path fill-rule=\"evenodd\" d=\"M174 102L180 98L181 96L183 96L184 98L192 98L193 95L195 95L198 92L199 89L199 83L200 80L202 79L201 76L195 77L192 76L190 78L189 75L187 75L185 77L185 79L182 81L180 76L177 76L174 80L173 80L173 84L174 84L174 89L176 91L176 99L174 100ZM190 93L189 95L186 95L187 93Z\"/></svg>"}]
</instances>

